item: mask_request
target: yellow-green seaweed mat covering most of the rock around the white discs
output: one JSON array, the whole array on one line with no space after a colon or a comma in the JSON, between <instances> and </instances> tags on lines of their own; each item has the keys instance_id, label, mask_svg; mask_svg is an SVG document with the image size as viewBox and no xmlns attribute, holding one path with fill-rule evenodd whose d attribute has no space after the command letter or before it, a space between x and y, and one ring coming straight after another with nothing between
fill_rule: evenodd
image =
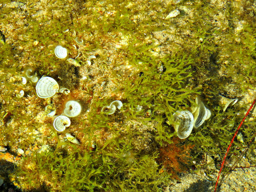
<instances>
[{"instance_id":1,"label":"yellow-green seaweed mat covering most of the rock around the white discs","mask_svg":"<svg viewBox=\"0 0 256 192\"><path fill-rule=\"evenodd\" d=\"M1 145L8 145L14 153L15 147L28 149L33 145L50 144L52 149L22 157L12 174L20 188L36 189L46 184L50 191L163 191L172 176L159 173L161 167L155 161L159 156L158 148L172 143L175 135L170 125L172 114L189 108L198 94L210 106L213 115L200 129L194 130L185 143L195 144L192 154L196 162L200 162L204 153L215 156L216 162L220 162L246 105L223 113L216 96L221 93L242 99L248 94L248 88L255 87L255 26L244 24L242 30L236 31L236 9L231 5L225 12L232 19L226 24L219 21L223 18L215 18L212 23L219 10L213 9L207 1L190 2L186 12L182 6L187 2L190 1L178 4L181 15L172 21L162 18L176 8L174 2L50 0L29 2L26 11L2 8L0 30L7 41L0 46L0 67L1 72L4 71L1 74L1 117L6 112L13 115L0 131ZM251 10L250 4L245 8ZM45 13L39 14L40 10ZM16 16L12 17L9 12ZM190 12L196 16L188 16ZM19 15L25 18L21 24ZM186 24L182 17L187 19ZM253 19L243 14L239 17L238 20L245 22ZM8 23L17 29L22 26L22 32L11 30L8 36L5 33ZM63 33L67 28L69 32ZM169 28L174 28L175 32ZM67 65L53 54L54 46L63 44L70 49L70 55L78 55L78 50L72 48L74 30L85 42L84 47L78 49L83 52L79 60L86 63L90 54L98 54L98 63L91 66L88 74L80 74L82 67L87 66ZM161 31L164 35L159 38ZM176 40L172 40L173 35ZM36 40L38 46L33 44ZM121 48L112 50L113 44L121 44ZM109 51L105 54L99 51L107 48ZM109 59L111 55L114 55L113 60ZM61 85L72 89L74 98L82 100L84 112L89 112L85 112L86 117L74 118L74 126L68 130L82 133L81 146L63 142L61 135L52 132L50 119L44 118L44 122L35 119L44 110L45 103L33 97L36 95L34 84L23 87L26 89L24 100L10 99L18 88L16 75L22 75L27 66L41 75L56 78ZM110 74L111 79L104 74ZM83 75L90 76L91 80L81 82ZM98 91L98 84L105 80L109 90ZM118 86L111 87L110 81ZM230 84L235 84L231 91ZM84 91L80 92L80 87ZM111 116L100 113L103 106L116 99L124 103L120 112ZM58 96L51 102L61 103L62 100L66 98ZM142 106L142 111L135 110L138 105ZM46 123L45 132L43 123ZM247 144L255 124L251 121L244 126L242 135ZM31 134L33 130L41 130L36 143L36 137ZM148 147L136 141L140 137ZM92 144L96 147L92 148ZM238 154L244 145L235 141L234 146L232 153ZM250 151L252 148L253 145ZM253 158L252 154L250 156ZM49 174L52 177L48 178Z\"/></svg>"}]
</instances>

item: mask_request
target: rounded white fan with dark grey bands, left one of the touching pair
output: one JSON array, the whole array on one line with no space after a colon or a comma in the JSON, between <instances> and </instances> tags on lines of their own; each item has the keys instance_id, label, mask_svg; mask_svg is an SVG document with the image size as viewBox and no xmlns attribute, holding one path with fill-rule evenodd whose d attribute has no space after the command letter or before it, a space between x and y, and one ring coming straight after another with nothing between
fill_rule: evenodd
<instances>
[{"instance_id":1,"label":"rounded white fan with dark grey bands, left one of the touching pair","mask_svg":"<svg viewBox=\"0 0 256 192\"><path fill-rule=\"evenodd\" d=\"M177 132L178 138L187 138L194 126L194 117L189 111L176 111L173 114L174 129Z\"/></svg>"}]
</instances>

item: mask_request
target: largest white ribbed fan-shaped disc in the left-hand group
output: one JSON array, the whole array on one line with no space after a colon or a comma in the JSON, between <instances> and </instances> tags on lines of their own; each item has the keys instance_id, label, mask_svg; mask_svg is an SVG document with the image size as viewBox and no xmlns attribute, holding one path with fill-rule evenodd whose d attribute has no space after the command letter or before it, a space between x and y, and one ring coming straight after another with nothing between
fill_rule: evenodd
<instances>
[{"instance_id":1,"label":"largest white ribbed fan-shaped disc in the left-hand group","mask_svg":"<svg viewBox=\"0 0 256 192\"><path fill-rule=\"evenodd\" d=\"M40 98L50 98L59 90L59 85L51 77L42 77L36 84L36 94Z\"/></svg>"}]
</instances>

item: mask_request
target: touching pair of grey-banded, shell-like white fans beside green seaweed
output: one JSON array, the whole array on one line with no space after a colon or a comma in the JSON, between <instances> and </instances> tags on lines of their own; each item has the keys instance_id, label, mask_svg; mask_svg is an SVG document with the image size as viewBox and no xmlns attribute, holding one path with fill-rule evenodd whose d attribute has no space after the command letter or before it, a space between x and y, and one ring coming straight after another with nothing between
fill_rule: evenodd
<instances>
[{"instance_id":1,"label":"touching pair of grey-banded, shell-like white fans beside green seaweed","mask_svg":"<svg viewBox=\"0 0 256 192\"><path fill-rule=\"evenodd\" d=\"M187 138L191 134L193 127L198 128L211 116L210 110L204 106L199 97L196 97L195 105L191 107L191 110L192 112L187 110L176 111L173 114L174 129L180 139Z\"/></svg>"}]
</instances>

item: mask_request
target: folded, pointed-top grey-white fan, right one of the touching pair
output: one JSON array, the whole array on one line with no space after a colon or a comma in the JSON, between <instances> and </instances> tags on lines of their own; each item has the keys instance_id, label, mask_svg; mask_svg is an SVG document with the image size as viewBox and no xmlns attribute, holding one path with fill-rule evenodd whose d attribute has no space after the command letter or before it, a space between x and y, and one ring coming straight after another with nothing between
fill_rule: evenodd
<instances>
[{"instance_id":1,"label":"folded, pointed-top grey-white fan, right one of the touching pair","mask_svg":"<svg viewBox=\"0 0 256 192\"><path fill-rule=\"evenodd\" d=\"M205 120L208 120L211 116L211 111L208 110L202 100L196 97L196 105L192 106L192 114L194 115L194 127L198 128Z\"/></svg>"}]
</instances>

